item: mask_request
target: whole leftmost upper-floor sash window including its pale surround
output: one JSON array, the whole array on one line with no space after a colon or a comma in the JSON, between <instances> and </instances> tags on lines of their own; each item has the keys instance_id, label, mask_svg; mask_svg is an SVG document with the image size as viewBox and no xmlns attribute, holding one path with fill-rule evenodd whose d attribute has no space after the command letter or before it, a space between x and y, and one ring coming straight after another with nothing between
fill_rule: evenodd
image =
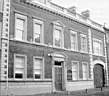
<instances>
[{"instance_id":1,"label":"whole leftmost upper-floor sash window including its pale surround","mask_svg":"<svg viewBox=\"0 0 109 96\"><path fill-rule=\"evenodd\" d=\"M15 14L15 39L26 40L27 38L27 17Z\"/></svg>"}]
</instances>

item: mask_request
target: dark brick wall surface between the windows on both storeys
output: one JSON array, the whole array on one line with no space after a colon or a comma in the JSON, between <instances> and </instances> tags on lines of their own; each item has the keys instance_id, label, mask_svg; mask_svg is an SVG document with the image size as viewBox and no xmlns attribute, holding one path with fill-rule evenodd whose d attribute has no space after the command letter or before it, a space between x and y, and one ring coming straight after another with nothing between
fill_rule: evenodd
<instances>
[{"instance_id":1,"label":"dark brick wall surface between the windows on both storeys","mask_svg":"<svg viewBox=\"0 0 109 96\"><path fill-rule=\"evenodd\" d=\"M44 21L44 44L51 44L53 45L53 21L61 21L64 25L64 47L66 49L70 48L70 28L73 28L75 31L78 32L78 48L80 50L80 33L84 33L88 35L88 26L78 23L77 21L71 20L69 18L66 18L64 16L54 14L53 12L49 12L47 10L35 7L33 5L25 4L17 2L19 0L12 0L11 3L11 17L10 17L10 37L14 37L14 17L15 12L24 14L27 16L27 41L31 41L31 38L33 36L33 27L32 27L32 18L40 18L42 21ZM96 30L93 30L93 36L95 36L97 33ZM100 33L100 37L102 36L102 33ZM89 47L88 47L89 48ZM73 51L65 51L63 49L55 49L55 48L47 48L47 47L41 47L38 45L32 45L27 43L20 43L15 41L10 41L10 47L9 47L9 77L13 78L13 55L15 53L17 54L25 54L27 56L27 77L32 78L32 66L33 56L42 56L44 57L45 61L45 78L51 78L52 77L52 64L51 64L51 58L48 57L48 53L51 52L61 52L65 53L68 56L68 60L66 62L68 69L71 68L71 61L79 61L79 77L82 78L82 62L88 62L89 63L89 55L83 54L80 52L73 52ZM89 66L90 67L90 66Z\"/></svg>"}]
</instances>

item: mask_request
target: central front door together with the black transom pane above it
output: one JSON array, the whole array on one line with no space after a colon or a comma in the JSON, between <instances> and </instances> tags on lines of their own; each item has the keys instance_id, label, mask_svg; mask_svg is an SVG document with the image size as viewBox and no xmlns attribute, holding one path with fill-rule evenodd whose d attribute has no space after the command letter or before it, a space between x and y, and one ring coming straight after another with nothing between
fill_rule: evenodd
<instances>
[{"instance_id":1,"label":"central front door together with the black transom pane above it","mask_svg":"<svg viewBox=\"0 0 109 96\"><path fill-rule=\"evenodd\" d=\"M55 61L55 90L62 91L63 90L63 67L62 62Z\"/></svg>"}]
</instances>

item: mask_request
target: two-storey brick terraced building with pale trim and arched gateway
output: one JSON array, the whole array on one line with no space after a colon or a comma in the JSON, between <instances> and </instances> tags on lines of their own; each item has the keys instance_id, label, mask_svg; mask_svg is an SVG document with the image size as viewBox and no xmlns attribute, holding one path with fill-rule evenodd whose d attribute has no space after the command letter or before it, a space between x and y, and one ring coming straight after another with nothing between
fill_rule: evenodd
<instances>
[{"instance_id":1,"label":"two-storey brick terraced building with pale trim and arched gateway","mask_svg":"<svg viewBox=\"0 0 109 96\"><path fill-rule=\"evenodd\" d=\"M2 94L108 85L105 31L90 20L88 10L79 14L75 7L50 0L6 0L2 5Z\"/></svg>"}]
</instances>

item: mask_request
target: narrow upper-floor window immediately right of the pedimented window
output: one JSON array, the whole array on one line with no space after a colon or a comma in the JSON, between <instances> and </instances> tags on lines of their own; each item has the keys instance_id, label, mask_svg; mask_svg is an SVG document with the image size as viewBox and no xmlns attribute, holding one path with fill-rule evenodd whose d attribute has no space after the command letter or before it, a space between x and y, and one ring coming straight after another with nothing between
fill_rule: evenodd
<instances>
[{"instance_id":1,"label":"narrow upper-floor window immediately right of the pedimented window","mask_svg":"<svg viewBox=\"0 0 109 96\"><path fill-rule=\"evenodd\" d=\"M77 44L77 32L74 32L71 30L71 49L77 50L78 44Z\"/></svg>"}]
</instances>

